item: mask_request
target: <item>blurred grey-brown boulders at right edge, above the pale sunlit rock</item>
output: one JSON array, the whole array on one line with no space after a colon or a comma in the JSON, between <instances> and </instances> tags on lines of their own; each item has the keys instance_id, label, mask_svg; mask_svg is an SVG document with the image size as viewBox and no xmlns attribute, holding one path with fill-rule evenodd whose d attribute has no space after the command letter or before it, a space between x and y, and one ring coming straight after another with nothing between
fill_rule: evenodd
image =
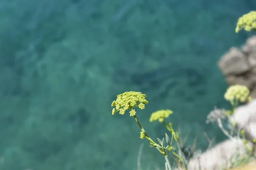
<instances>
[{"instance_id":1,"label":"blurred grey-brown boulders at right edge, above the pale sunlit rock","mask_svg":"<svg viewBox=\"0 0 256 170\"><path fill-rule=\"evenodd\" d=\"M230 48L218 66L230 85L245 85L256 98L256 36L250 37L241 48Z\"/></svg>"}]
</instances>

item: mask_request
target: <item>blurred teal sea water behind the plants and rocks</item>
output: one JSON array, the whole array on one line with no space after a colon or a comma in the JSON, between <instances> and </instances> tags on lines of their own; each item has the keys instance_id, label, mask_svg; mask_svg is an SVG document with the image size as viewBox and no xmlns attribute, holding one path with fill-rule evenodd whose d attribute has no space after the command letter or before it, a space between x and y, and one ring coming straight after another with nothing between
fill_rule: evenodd
<instances>
[{"instance_id":1,"label":"blurred teal sea water behind the plants and rocks","mask_svg":"<svg viewBox=\"0 0 256 170\"><path fill-rule=\"evenodd\" d=\"M164 159L127 113L111 115L125 91L146 94L137 111L153 139L166 132L152 112L168 119L187 145L203 133L224 139L205 123L228 107L217 62L253 33L235 33L255 0L0 0L0 170L163 169Z\"/></svg>"}]
</instances>

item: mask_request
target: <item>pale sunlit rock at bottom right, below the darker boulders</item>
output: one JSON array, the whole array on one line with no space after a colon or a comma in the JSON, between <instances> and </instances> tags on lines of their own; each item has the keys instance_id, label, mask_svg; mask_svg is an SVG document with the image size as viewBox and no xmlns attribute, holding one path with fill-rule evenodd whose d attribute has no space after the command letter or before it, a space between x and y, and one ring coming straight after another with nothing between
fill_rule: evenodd
<instances>
[{"instance_id":1,"label":"pale sunlit rock at bottom right, below the darker boulders","mask_svg":"<svg viewBox=\"0 0 256 170\"><path fill-rule=\"evenodd\" d=\"M247 147L253 147L256 138L256 99L246 105L239 106L230 118L239 129L245 130L245 137L249 140ZM205 151L198 157L189 160L188 170L219 170L229 168L230 163L236 161L236 156L243 157L246 146L241 139L228 139Z\"/></svg>"}]
</instances>

